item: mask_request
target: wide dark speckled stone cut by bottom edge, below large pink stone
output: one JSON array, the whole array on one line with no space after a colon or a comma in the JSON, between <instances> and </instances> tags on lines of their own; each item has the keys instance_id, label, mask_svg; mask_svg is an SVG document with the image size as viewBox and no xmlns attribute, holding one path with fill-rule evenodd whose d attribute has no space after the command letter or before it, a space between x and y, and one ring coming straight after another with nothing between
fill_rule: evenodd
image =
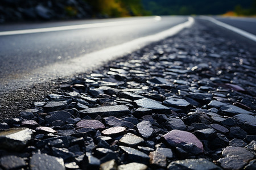
<instances>
[{"instance_id":1,"label":"wide dark speckled stone cut by bottom edge, below large pink stone","mask_svg":"<svg viewBox=\"0 0 256 170\"><path fill-rule=\"evenodd\" d=\"M169 170L175 169L204 169L204 170L221 170L216 164L209 162L207 159L185 159L171 162L168 167Z\"/></svg>"}]
</instances>

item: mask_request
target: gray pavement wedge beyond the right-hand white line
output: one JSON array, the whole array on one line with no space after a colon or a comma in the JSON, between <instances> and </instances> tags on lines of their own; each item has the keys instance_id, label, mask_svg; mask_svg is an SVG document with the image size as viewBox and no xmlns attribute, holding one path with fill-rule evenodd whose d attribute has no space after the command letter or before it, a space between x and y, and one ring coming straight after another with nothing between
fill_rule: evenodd
<instances>
[{"instance_id":1,"label":"gray pavement wedge beyond the right-hand white line","mask_svg":"<svg viewBox=\"0 0 256 170\"><path fill-rule=\"evenodd\" d=\"M256 35L256 18L220 18L216 17L215 19L219 20L222 23L232 25L242 29L243 31L252 33Z\"/></svg>"}]
</instances>

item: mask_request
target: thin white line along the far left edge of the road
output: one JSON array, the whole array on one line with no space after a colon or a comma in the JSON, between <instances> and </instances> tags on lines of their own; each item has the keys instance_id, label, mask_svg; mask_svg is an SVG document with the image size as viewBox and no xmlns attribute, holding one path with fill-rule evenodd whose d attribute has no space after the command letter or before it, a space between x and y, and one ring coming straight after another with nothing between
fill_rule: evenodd
<instances>
[{"instance_id":1,"label":"thin white line along the far left edge of the road","mask_svg":"<svg viewBox=\"0 0 256 170\"><path fill-rule=\"evenodd\" d=\"M68 25L68 26L49 27L49 28L22 29L22 30L15 30L15 31L2 31L2 32L0 32L0 36L21 35L21 34L28 34L28 33L53 32L53 31L67 31L67 30L84 29L84 28L111 27L111 26L123 25L123 24L134 24L134 22L139 22L139 23L148 22L148 21L152 21L152 20L154 22L159 22L161 19L162 18L160 16L155 16L154 18L141 19L141 20L128 20L128 21L118 21L118 22Z\"/></svg>"}]
</instances>

